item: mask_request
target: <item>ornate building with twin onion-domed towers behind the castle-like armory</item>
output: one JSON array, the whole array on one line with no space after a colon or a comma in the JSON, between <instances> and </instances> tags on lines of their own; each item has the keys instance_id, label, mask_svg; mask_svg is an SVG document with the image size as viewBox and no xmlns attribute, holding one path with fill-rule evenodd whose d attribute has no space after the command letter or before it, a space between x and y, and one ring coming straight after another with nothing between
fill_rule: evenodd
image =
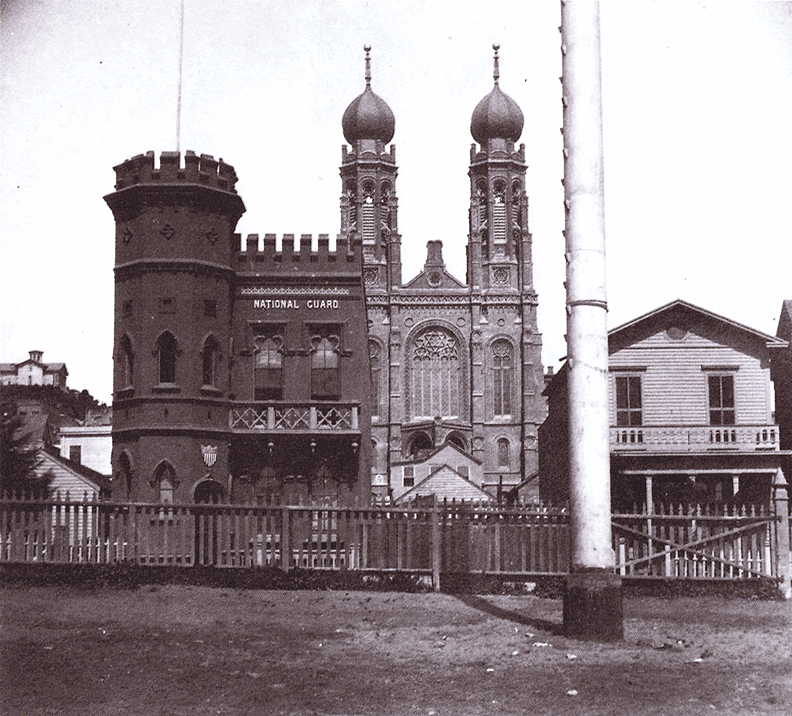
<instances>
[{"instance_id":1,"label":"ornate building with twin onion-domed towers behind the castle-like armory","mask_svg":"<svg viewBox=\"0 0 792 716\"><path fill-rule=\"evenodd\" d=\"M343 116L341 234L360 237L372 368L374 481L398 499L417 466L446 444L458 467L495 494L536 473L544 419L541 336L533 287L520 108L499 87L476 106L470 152L467 280L427 243L423 270L401 281L395 133L388 105L366 87ZM468 456L470 460L466 460Z\"/></svg>"}]
</instances>

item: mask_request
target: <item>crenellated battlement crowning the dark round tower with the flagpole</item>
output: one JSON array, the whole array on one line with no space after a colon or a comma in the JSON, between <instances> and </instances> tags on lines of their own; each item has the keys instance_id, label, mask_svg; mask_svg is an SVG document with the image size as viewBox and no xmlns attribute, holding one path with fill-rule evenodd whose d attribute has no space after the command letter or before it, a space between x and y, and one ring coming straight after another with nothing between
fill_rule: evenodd
<instances>
[{"instance_id":1,"label":"crenellated battlement crowning the dark round tower with the flagpole","mask_svg":"<svg viewBox=\"0 0 792 716\"><path fill-rule=\"evenodd\" d=\"M234 167L209 154L184 153L181 164L179 152L162 152L159 166L155 166L154 152L146 152L127 159L116 167L116 190L136 184L200 184L213 189L236 193L237 175Z\"/></svg>"}]
</instances>

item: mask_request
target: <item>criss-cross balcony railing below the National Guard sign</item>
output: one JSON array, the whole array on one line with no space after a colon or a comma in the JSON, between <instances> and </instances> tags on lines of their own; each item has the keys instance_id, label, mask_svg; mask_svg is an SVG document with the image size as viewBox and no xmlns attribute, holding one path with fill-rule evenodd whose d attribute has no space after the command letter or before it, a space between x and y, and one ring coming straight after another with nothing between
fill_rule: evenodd
<instances>
[{"instance_id":1,"label":"criss-cross balcony railing below the National Guard sign","mask_svg":"<svg viewBox=\"0 0 792 716\"><path fill-rule=\"evenodd\" d=\"M240 432L358 433L356 403L238 403L228 414Z\"/></svg>"}]
</instances>

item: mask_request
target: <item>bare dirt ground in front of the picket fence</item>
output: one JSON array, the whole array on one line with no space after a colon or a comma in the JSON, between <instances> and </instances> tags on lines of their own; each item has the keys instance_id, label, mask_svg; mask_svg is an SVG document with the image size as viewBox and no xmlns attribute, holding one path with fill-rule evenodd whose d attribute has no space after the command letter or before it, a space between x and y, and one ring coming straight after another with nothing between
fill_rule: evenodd
<instances>
[{"instance_id":1,"label":"bare dirt ground in front of the picket fence","mask_svg":"<svg viewBox=\"0 0 792 716\"><path fill-rule=\"evenodd\" d=\"M792 714L792 604L625 600L625 639L561 602L388 592L0 590L0 713Z\"/></svg>"}]
</instances>

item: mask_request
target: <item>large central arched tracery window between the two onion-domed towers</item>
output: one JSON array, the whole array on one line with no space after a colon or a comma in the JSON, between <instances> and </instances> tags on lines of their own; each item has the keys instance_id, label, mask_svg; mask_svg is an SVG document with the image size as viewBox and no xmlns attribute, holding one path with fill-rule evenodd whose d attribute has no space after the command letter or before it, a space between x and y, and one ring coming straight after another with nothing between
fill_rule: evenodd
<instances>
[{"instance_id":1,"label":"large central arched tracery window between the two onion-domed towers","mask_svg":"<svg viewBox=\"0 0 792 716\"><path fill-rule=\"evenodd\" d=\"M413 342L410 360L412 417L459 417L461 367L457 339L429 328Z\"/></svg>"}]
</instances>

